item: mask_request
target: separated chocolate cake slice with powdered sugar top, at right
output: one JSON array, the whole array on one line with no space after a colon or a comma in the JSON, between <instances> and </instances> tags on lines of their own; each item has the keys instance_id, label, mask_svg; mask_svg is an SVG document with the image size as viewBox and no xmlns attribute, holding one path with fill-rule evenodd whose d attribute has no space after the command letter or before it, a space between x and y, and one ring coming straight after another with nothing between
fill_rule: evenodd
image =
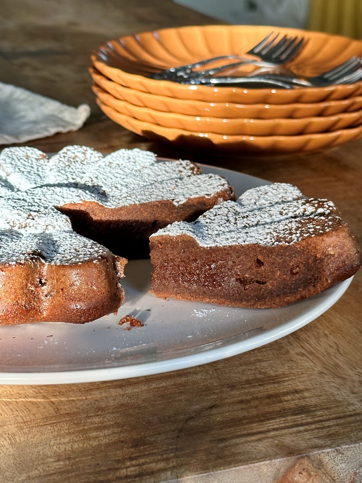
<instances>
[{"instance_id":1,"label":"separated chocolate cake slice with powdered sugar top, at right","mask_svg":"<svg viewBox=\"0 0 362 483\"><path fill-rule=\"evenodd\" d=\"M272 308L352 276L361 254L334 204L275 183L150 238L157 297Z\"/></svg>"}]
</instances>

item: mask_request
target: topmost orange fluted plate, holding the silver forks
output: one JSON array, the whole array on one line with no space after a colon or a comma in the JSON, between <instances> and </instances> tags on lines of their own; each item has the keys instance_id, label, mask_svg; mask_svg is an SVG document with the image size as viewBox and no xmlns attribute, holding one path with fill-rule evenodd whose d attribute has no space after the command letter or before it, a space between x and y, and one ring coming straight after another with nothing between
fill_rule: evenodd
<instances>
[{"instance_id":1,"label":"topmost orange fluted plate, holding the silver forks","mask_svg":"<svg viewBox=\"0 0 362 483\"><path fill-rule=\"evenodd\" d=\"M288 64L300 75L313 76L332 69L353 55L362 55L362 42L339 35L296 28L209 25L166 28L111 40L92 55L95 67L120 85L176 99L242 104L289 104L346 99L362 93L362 83L327 87L248 89L181 85L148 78L152 72L226 54L245 56L273 30L303 36L306 45ZM240 71L238 72L240 73Z\"/></svg>"}]
</instances>

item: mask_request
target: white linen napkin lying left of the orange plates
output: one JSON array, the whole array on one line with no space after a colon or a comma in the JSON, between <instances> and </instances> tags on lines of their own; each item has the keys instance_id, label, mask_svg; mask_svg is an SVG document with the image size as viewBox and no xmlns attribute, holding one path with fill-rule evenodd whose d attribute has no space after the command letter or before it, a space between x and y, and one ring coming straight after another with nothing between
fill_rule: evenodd
<instances>
[{"instance_id":1,"label":"white linen napkin lying left of the orange plates","mask_svg":"<svg viewBox=\"0 0 362 483\"><path fill-rule=\"evenodd\" d=\"M76 131L90 107L71 107L21 87L0 82L0 144L13 144Z\"/></svg>"}]
</instances>

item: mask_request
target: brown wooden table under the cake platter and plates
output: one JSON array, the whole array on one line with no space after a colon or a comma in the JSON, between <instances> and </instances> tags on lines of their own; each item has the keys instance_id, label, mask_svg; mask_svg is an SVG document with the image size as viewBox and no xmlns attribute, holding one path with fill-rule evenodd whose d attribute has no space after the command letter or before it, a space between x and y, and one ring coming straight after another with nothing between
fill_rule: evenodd
<instances>
[{"instance_id":1,"label":"brown wooden table under the cake platter and plates","mask_svg":"<svg viewBox=\"0 0 362 483\"><path fill-rule=\"evenodd\" d=\"M279 160L212 158L155 145L100 113L87 73L93 47L209 18L162 0L3 0L1 15L0 80L92 107L78 132L28 144L138 146L293 183L333 199L362 244L362 141ZM124 381L1 386L0 482L361 482L361 281L362 271L306 327L212 364Z\"/></svg>"}]
</instances>

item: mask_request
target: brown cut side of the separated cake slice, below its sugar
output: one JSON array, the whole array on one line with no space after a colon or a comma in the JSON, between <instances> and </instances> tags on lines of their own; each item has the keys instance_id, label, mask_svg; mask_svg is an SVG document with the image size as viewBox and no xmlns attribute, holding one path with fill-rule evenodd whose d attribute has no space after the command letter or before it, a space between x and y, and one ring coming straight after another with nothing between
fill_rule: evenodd
<instances>
[{"instance_id":1,"label":"brown cut side of the separated cake slice, below its sugar","mask_svg":"<svg viewBox=\"0 0 362 483\"><path fill-rule=\"evenodd\" d=\"M151 238L157 297L281 307L319 294L352 276L361 254L344 223L290 245L199 246L188 235Z\"/></svg>"}]
</instances>

